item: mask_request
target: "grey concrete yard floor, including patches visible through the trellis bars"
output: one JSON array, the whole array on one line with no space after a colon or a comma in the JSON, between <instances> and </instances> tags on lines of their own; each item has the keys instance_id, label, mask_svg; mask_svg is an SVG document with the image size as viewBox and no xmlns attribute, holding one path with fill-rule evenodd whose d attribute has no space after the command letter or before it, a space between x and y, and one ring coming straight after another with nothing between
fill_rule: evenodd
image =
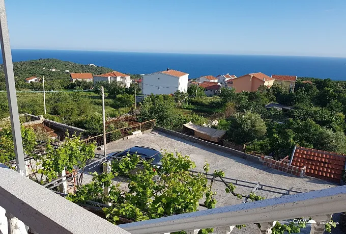
<instances>
[{"instance_id":1,"label":"grey concrete yard floor, including patches visible through the trellis bars","mask_svg":"<svg viewBox=\"0 0 346 234\"><path fill-rule=\"evenodd\" d=\"M182 154L187 154L192 161L195 162L195 171L203 172L203 163L205 160L210 165L210 173L214 170L222 170L225 172L226 177L251 181L255 183L261 183L264 185L275 186L284 189L294 189L301 192L308 192L312 190L320 190L335 187L337 185L328 183L327 181L316 179L312 177L300 178L289 173L281 172L272 168L263 166L252 161L232 155L232 153L224 153L216 149L193 143L178 137L174 137L162 132L154 131L152 133L144 134L139 137L135 137L129 140L118 140L107 144L107 153L125 150L130 147L140 145L155 148L157 150L169 150L172 152L180 151ZM103 151L96 151L97 153L103 153ZM83 182L88 183L90 175L84 173ZM120 179L117 179L120 181ZM225 186L223 183L214 182L213 189L217 192L215 196L217 200L216 207L239 204L243 199L238 199L232 194L225 193ZM246 188L243 186L237 186L235 192L243 195L248 195L252 188ZM282 196L282 194L261 191L255 192L257 195L261 195L265 198L273 198ZM201 207L203 209L203 207ZM335 220L335 219L334 219ZM283 223L283 221L280 221ZM334 228L333 228L334 229ZM309 233L310 228L304 228L301 233ZM214 233L221 233L214 229ZM260 233L260 230L256 225L250 224L245 228L235 228L232 233ZM341 233L337 231L337 228L332 233Z\"/></svg>"}]
</instances>

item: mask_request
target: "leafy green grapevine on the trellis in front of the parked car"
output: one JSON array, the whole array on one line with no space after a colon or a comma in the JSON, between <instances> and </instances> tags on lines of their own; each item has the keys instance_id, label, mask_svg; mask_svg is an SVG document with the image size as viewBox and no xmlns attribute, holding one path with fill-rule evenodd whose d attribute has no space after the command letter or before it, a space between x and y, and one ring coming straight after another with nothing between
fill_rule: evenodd
<instances>
[{"instance_id":1,"label":"leafy green grapevine on the trellis in front of the parked car","mask_svg":"<svg viewBox=\"0 0 346 234\"><path fill-rule=\"evenodd\" d=\"M83 185L68 199L84 203L87 199L103 198L102 202L111 202L111 207L103 210L106 219L114 224L118 224L121 218L140 221L197 211L199 200L210 191L206 175L191 175L187 170L195 167L194 162L178 152L164 152L161 161L162 166L156 167L142 161L138 155L127 155L122 161L112 163L112 174L125 174L130 178L126 188L128 192L111 185L112 175L95 175L97 178L94 177L93 181L99 182L93 183L97 183L98 188L102 184L110 186L108 197L102 195L102 190L96 191L95 186ZM131 173L138 163L142 164L143 170ZM153 180L154 176L160 179ZM208 193L207 208L215 207L216 200L212 194Z\"/></svg>"}]
</instances>

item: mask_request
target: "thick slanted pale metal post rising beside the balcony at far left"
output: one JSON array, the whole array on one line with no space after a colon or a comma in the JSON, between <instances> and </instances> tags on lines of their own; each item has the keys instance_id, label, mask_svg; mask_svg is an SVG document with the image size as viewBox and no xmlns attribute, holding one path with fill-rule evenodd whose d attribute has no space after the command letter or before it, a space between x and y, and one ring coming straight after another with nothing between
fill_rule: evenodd
<instances>
[{"instance_id":1,"label":"thick slanted pale metal post rising beside the balcony at far left","mask_svg":"<svg viewBox=\"0 0 346 234\"><path fill-rule=\"evenodd\" d=\"M7 99L9 102L14 153L16 155L16 163L17 163L17 172L25 176L26 172L25 172L25 162L24 162L24 151L23 151L23 144L22 144L21 131L20 131L21 125L19 122L17 94L16 94L16 86L14 83L12 54L11 54L11 46L10 46L10 36L9 36L9 30L7 25L7 17L6 17L4 0L0 0L0 41L1 41L2 56L4 61L6 91L7 91Z\"/></svg>"}]
</instances>

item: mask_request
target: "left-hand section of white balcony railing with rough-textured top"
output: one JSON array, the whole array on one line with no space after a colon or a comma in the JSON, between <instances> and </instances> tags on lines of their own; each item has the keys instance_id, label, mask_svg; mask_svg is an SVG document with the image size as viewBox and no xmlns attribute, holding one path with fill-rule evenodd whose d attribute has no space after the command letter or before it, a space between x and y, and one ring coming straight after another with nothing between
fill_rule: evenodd
<instances>
[{"instance_id":1,"label":"left-hand section of white balcony railing with rough-textured top","mask_svg":"<svg viewBox=\"0 0 346 234\"><path fill-rule=\"evenodd\" d=\"M28 233L28 228L38 234L129 234L0 164L0 233Z\"/></svg>"}]
</instances>

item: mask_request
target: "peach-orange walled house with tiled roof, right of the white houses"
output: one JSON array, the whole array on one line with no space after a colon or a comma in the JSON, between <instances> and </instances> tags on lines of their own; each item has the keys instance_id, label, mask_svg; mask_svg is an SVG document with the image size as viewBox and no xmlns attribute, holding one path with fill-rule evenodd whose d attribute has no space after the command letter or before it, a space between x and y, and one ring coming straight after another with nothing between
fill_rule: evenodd
<instances>
[{"instance_id":1,"label":"peach-orange walled house with tiled roof, right of the white houses","mask_svg":"<svg viewBox=\"0 0 346 234\"><path fill-rule=\"evenodd\" d=\"M233 80L233 88L237 93L242 91L253 92L257 91L261 85L271 87L274 85L274 79L262 72L250 73L239 76Z\"/></svg>"}]
</instances>

